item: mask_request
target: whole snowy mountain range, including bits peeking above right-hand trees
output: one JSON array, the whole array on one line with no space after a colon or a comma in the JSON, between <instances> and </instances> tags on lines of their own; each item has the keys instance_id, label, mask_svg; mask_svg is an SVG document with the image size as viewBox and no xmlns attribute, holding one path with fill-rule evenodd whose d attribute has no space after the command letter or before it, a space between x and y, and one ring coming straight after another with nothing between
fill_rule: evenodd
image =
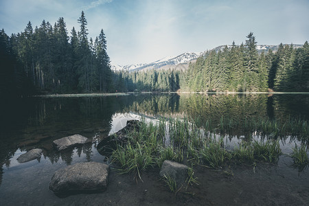
<instances>
[{"instance_id":1,"label":"whole snowy mountain range, including bits peeking above right-hand trees","mask_svg":"<svg viewBox=\"0 0 309 206\"><path fill-rule=\"evenodd\" d=\"M223 50L226 45L218 46L214 49L216 52ZM228 48L231 45L227 45ZM273 52L277 52L279 45L257 45L259 54L268 52L271 49ZM302 47L302 45L293 45L294 48ZM205 52L185 52L179 56L168 56L161 58L155 62L136 64L136 65L111 65L113 71L141 71L148 69L176 69L176 70L185 70L189 67L190 62L194 62L199 56L205 54Z\"/></svg>"}]
</instances>

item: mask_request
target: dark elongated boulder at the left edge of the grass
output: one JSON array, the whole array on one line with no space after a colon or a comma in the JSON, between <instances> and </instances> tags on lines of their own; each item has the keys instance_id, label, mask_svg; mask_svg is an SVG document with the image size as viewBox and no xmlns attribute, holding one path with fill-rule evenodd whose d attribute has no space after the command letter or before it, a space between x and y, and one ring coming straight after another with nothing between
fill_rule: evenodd
<instances>
[{"instance_id":1,"label":"dark elongated boulder at the left edge of the grass","mask_svg":"<svg viewBox=\"0 0 309 206\"><path fill-rule=\"evenodd\" d=\"M141 123L139 122L139 120L128 120L124 128L117 131L117 133L109 135L108 137L100 141L97 146L98 152L101 155L108 155L115 148L117 148L117 144L126 144L126 141L128 141L128 133L132 132L133 130L138 131L140 124Z\"/></svg>"}]
</instances>

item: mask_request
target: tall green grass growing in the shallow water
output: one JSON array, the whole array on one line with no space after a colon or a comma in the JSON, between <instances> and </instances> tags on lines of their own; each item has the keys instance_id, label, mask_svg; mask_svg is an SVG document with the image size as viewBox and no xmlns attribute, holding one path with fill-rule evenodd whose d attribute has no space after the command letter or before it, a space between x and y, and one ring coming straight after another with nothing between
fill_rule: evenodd
<instances>
[{"instance_id":1,"label":"tall green grass growing in the shallow water","mask_svg":"<svg viewBox=\"0 0 309 206\"><path fill-rule=\"evenodd\" d=\"M203 127L204 126L204 127ZM233 150L227 150L218 135L241 130L249 137L259 135L261 140L249 138ZM307 136L306 136L307 135ZM219 124L209 119L160 119L158 124L142 122L138 130L128 134L126 145L118 145L111 160L119 165L119 172L133 173L141 179L141 172L159 167L166 159L209 168L224 168L229 163L255 164L259 161L274 163L282 151L279 137L297 137L308 141L309 130L306 121L300 119L255 119L242 121L231 117L221 117ZM265 138L266 137L266 138ZM295 163L306 163L304 148L295 148Z\"/></svg>"}]
</instances>

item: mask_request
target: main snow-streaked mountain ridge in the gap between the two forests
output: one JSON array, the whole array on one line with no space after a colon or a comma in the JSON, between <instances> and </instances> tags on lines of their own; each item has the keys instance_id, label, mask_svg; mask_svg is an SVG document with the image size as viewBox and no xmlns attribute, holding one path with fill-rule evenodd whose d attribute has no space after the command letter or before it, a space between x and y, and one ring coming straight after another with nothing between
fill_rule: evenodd
<instances>
[{"instance_id":1,"label":"main snow-streaked mountain ridge in the gap between the two forests","mask_svg":"<svg viewBox=\"0 0 309 206\"><path fill-rule=\"evenodd\" d=\"M191 60L196 60L198 56L202 53L197 52L185 52L179 56L168 56L161 58L155 62L146 63L146 64L137 64L137 65L112 65L114 71L124 70L124 71L140 71L144 69L161 69L162 67L174 68L176 65L186 64Z\"/></svg>"}]
</instances>

